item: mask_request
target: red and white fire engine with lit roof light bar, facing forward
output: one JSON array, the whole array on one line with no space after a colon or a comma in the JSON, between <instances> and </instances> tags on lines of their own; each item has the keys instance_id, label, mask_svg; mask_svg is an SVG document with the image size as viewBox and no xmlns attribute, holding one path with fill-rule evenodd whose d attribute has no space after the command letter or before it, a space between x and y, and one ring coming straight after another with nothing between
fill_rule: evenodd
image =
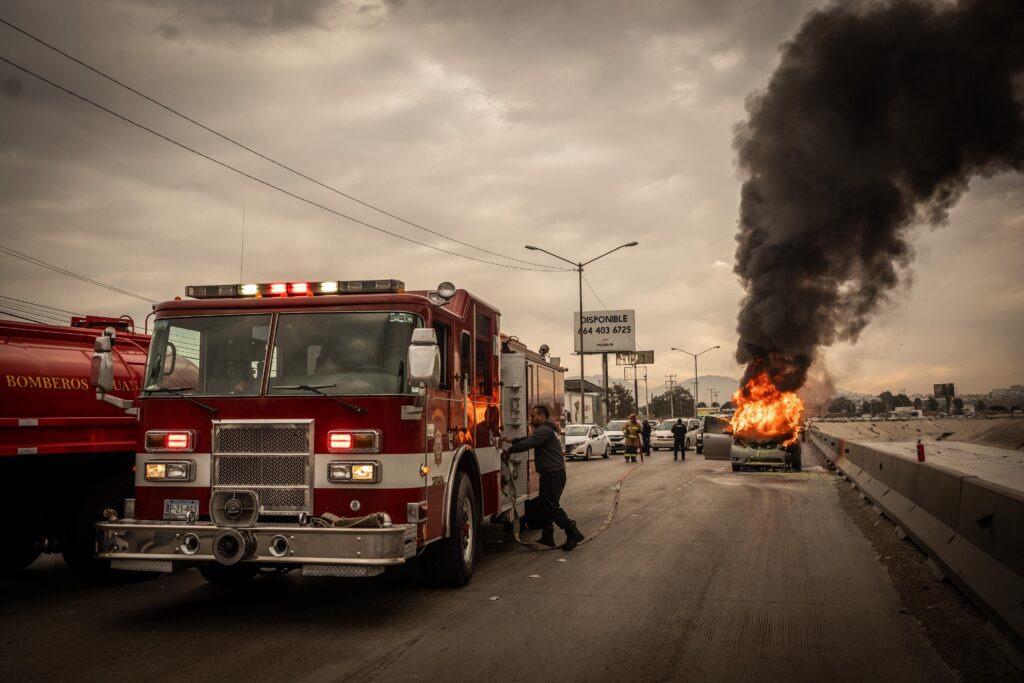
<instances>
[{"instance_id":1,"label":"red and white fire engine with lit roof light bar, facing forward","mask_svg":"<svg viewBox=\"0 0 1024 683\"><path fill-rule=\"evenodd\" d=\"M496 439L524 434L532 403L561 414L562 369L503 338L494 306L395 280L186 295L156 306L135 499L97 525L112 566L228 583L420 557L434 583L462 586L480 524L536 497L532 458L503 463ZM119 346L96 342L101 396Z\"/></svg>"}]
</instances>

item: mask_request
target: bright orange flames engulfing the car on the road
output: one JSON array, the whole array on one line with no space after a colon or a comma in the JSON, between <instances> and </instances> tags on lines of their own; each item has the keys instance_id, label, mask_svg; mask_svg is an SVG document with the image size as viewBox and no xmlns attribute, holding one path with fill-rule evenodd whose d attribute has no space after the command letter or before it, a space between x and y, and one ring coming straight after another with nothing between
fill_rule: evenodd
<instances>
[{"instance_id":1,"label":"bright orange flames engulfing the car on the road","mask_svg":"<svg viewBox=\"0 0 1024 683\"><path fill-rule=\"evenodd\" d=\"M779 391L767 373L759 373L732 395L736 413L732 431L750 440L784 438L782 445L795 443L804 401L793 391Z\"/></svg>"}]
</instances>

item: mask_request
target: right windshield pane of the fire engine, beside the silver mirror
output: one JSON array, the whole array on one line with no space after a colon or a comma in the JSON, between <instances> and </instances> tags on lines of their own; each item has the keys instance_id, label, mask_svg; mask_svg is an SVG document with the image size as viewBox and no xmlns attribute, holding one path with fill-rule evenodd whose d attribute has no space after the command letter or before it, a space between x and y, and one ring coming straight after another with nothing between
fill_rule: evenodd
<instances>
[{"instance_id":1,"label":"right windshield pane of the fire engine, beside the silver mirror","mask_svg":"<svg viewBox=\"0 0 1024 683\"><path fill-rule=\"evenodd\" d=\"M404 311L280 313L271 352L272 395L315 385L332 395L411 393L406 354L422 319Z\"/></svg>"}]
</instances>

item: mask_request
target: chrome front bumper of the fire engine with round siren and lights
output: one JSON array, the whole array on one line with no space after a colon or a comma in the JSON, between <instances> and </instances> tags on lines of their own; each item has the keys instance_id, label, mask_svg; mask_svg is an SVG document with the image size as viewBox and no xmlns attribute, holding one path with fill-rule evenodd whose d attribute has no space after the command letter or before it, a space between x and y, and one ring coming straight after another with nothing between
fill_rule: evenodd
<instances>
[{"instance_id":1,"label":"chrome front bumper of the fire engine with round siren and lights","mask_svg":"<svg viewBox=\"0 0 1024 683\"><path fill-rule=\"evenodd\" d=\"M416 524L338 528L298 524L122 519L96 524L99 559L115 569L177 571L206 562L301 568L303 575L373 577L416 555Z\"/></svg>"}]
</instances>

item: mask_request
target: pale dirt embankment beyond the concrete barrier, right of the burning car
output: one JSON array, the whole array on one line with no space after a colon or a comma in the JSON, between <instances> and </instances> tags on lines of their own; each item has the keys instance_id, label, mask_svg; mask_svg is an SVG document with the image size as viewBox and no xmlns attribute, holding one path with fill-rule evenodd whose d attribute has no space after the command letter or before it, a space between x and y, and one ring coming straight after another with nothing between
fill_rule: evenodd
<instances>
[{"instance_id":1,"label":"pale dirt embankment beyond the concrete barrier, right of the burning car","mask_svg":"<svg viewBox=\"0 0 1024 683\"><path fill-rule=\"evenodd\" d=\"M937 420L856 420L826 422L822 431L856 441L964 441L1024 451L1024 419L945 418Z\"/></svg>"}]
</instances>

